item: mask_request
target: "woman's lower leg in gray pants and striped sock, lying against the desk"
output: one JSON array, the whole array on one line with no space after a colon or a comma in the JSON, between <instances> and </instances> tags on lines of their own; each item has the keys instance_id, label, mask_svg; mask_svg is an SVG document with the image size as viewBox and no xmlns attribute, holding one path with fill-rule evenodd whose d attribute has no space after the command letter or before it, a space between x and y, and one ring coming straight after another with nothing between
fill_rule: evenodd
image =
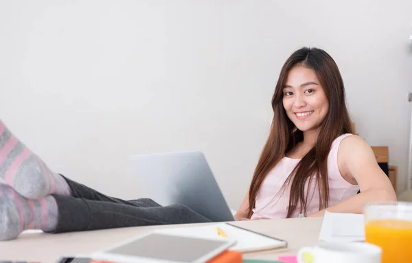
<instances>
[{"instance_id":1,"label":"woman's lower leg in gray pants and striped sock, lying against the desk","mask_svg":"<svg viewBox=\"0 0 412 263\"><path fill-rule=\"evenodd\" d=\"M51 233L211 222L184 205L162 207L141 198L124 203L52 195L27 199L9 185L0 185L0 240L14 239L25 229Z\"/></svg>"}]
</instances>

